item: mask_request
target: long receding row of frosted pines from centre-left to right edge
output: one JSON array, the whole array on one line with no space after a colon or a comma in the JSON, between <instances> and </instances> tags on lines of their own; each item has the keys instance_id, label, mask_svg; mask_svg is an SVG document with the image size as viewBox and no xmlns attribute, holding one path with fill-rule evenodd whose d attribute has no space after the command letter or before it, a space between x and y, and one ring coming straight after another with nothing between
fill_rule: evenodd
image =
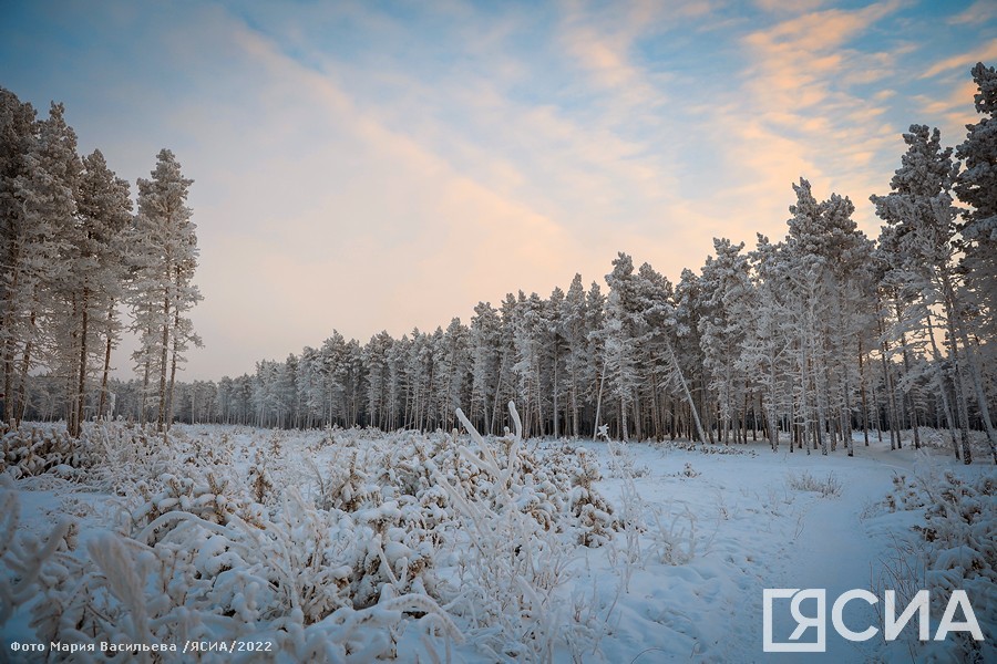
<instances>
[{"instance_id":1,"label":"long receding row of frosted pines from centre-left to right edge","mask_svg":"<svg viewBox=\"0 0 997 664\"><path fill-rule=\"evenodd\" d=\"M853 454L860 429L866 445L874 432L898 447L901 429L919 446L929 426L947 429L966 463L970 430L984 432L997 461L997 74L981 63L972 73L979 122L955 149L911 126L890 189L872 197L875 240L847 197L818 200L801 178L784 238L759 235L750 250L717 239L677 283L619 253L605 293L575 276L546 298L481 302L470 324L362 345L333 332L251 374L182 384L169 414L450 429L460 406L480 430L501 433L513 400L533 436L750 436ZM40 415L56 413L60 383L37 385L35 407L52 404ZM113 390L117 414L148 419L147 380Z\"/></svg>"}]
</instances>

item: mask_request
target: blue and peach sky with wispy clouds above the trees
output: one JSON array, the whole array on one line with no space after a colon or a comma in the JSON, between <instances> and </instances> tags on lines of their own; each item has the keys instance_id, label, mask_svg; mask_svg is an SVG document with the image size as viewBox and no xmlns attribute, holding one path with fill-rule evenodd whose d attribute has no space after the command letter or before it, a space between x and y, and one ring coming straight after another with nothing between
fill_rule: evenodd
<instances>
[{"instance_id":1,"label":"blue and peach sky with wispy clouds above the trees","mask_svg":"<svg viewBox=\"0 0 997 664\"><path fill-rule=\"evenodd\" d=\"M902 133L960 143L978 61L997 0L0 0L0 86L133 193L163 147L194 179L182 380L604 286L618 251L675 281L783 237L800 177L876 237Z\"/></svg>"}]
</instances>

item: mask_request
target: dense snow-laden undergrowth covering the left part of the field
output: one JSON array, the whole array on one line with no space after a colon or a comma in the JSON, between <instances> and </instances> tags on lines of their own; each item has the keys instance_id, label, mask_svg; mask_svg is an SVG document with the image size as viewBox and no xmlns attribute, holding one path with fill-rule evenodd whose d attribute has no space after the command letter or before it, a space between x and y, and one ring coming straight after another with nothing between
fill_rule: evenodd
<instances>
[{"instance_id":1,"label":"dense snow-laden undergrowth covering the left part of the field","mask_svg":"<svg viewBox=\"0 0 997 664\"><path fill-rule=\"evenodd\" d=\"M428 660L462 640L500 660L585 646L584 622L553 629L554 593L577 546L619 523L584 449L352 429L290 455L261 435L250 455L227 433L8 433L0 623L25 605L45 643L265 640L292 661L391 658L405 631ZM111 494L116 525L84 537L69 515L32 533L14 479Z\"/></svg>"}]
</instances>

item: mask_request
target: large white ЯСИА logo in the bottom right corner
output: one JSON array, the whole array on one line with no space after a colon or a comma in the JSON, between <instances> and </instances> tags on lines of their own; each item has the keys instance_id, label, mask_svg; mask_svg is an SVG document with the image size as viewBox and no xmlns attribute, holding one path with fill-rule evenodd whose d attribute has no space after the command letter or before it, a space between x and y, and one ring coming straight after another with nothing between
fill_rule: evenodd
<instances>
[{"instance_id":1,"label":"large white \u042f\u0421\u0418\u0410 logo in the bottom right corner","mask_svg":"<svg viewBox=\"0 0 997 664\"><path fill-rule=\"evenodd\" d=\"M767 588L763 593L764 604L762 606L762 629L764 630L763 650L767 653L822 653L828 645L828 591L823 588ZM773 604L775 600L790 600L789 602L780 602L783 604L782 610L785 611L784 604L789 604L789 615L796 623L796 629L790 634L788 641L774 641L773 639ZM815 608L810 609L810 615L804 615L801 604L804 600L814 600ZM867 590L850 590L842 593L834 604L831 605L831 624L834 631L849 641L868 641L880 633L880 629L868 625L861 632L851 630L844 623L845 605L852 600L862 600L868 604L875 604L880 601L875 594ZM883 593L883 637L886 641L893 641L903 631L904 626L917 614L917 637L921 641L928 641L929 622L928 622L928 604L931 595L928 591L921 590L911 600L911 603L897 615L896 610L896 592L886 590ZM962 610L964 620L956 620L956 611ZM815 634L812 640L801 641L801 636L813 627ZM977 641L983 641L983 631L979 629L979 622L969 604L969 596L965 590L955 590L942 614L938 629L935 632L935 641L944 641L950 632L969 632Z\"/></svg>"}]
</instances>

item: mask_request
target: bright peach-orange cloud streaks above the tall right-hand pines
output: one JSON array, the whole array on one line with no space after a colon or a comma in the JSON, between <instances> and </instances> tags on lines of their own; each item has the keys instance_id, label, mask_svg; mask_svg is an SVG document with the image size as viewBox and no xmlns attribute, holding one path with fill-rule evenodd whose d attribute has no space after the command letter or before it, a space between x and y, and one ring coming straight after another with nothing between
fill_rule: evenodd
<instances>
[{"instance_id":1,"label":"bright peach-orange cloud streaks above the tall right-hand pines","mask_svg":"<svg viewBox=\"0 0 997 664\"><path fill-rule=\"evenodd\" d=\"M806 177L815 190L850 195L856 220L874 231L865 197L882 178L876 158L893 145L895 131L884 122L888 95L870 97L855 86L888 79L895 62L886 52L850 48L898 2L859 10L802 13L741 38L746 65L741 84L711 114L723 132L728 178L737 185L720 200L738 207L749 243L758 230L784 234L790 184ZM719 141L718 141L719 142Z\"/></svg>"}]
</instances>

